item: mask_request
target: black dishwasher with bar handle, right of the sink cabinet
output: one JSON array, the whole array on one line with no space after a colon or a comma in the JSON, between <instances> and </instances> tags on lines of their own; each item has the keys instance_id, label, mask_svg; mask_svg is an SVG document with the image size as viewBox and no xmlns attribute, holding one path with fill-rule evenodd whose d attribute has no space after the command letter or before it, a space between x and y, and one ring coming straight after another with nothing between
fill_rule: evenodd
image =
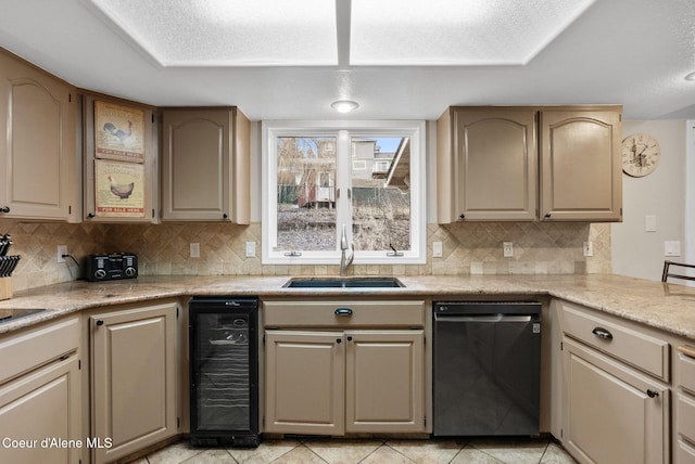
<instances>
[{"instance_id":1,"label":"black dishwasher with bar handle, right of the sink cabinet","mask_svg":"<svg viewBox=\"0 0 695 464\"><path fill-rule=\"evenodd\" d=\"M541 304L434 302L434 436L539 434Z\"/></svg>"}]
</instances>

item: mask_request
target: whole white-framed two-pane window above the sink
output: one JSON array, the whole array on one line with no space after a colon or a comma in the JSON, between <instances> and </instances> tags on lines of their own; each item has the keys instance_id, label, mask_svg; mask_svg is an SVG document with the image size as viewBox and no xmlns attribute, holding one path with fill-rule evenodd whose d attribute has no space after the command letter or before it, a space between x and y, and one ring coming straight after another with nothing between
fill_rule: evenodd
<instances>
[{"instance_id":1,"label":"whole white-framed two-pane window above the sink","mask_svg":"<svg viewBox=\"0 0 695 464\"><path fill-rule=\"evenodd\" d=\"M424 263L425 123L263 123L263 263Z\"/></svg>"}]
</instances>

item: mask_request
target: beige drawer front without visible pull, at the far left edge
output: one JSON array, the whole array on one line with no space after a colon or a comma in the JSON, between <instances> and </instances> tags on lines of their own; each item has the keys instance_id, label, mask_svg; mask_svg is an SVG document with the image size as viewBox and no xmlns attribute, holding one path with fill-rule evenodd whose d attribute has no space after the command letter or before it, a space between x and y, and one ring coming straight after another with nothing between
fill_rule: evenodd
<instances>
[{"instance_id":1,"label":"beige drawer front without visible pull, at the far left edge","mask_svg":"<svg viewBox=\"0 0 695 464\"><path fill-rule=\"evenodd\" d=\"M0 338L0 383L74 351L78 344L77 318L10 333Z\"/></svg>"}]
</instances>

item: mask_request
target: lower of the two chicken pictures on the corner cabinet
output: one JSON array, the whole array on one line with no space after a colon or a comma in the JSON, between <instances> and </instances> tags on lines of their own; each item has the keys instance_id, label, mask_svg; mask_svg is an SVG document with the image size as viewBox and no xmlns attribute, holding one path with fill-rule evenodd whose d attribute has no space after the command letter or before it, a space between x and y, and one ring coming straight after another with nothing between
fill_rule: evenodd
<instances>
[{"instance_id":1,"label":"lower of the two chicken pictures on the corner cabinet","mask_svg":"<svg viewBox=\"0 0 695 464\"><path fill-rule=\"evenodd\" d=\"M144 217L144 165L94 159L94 180L97 217Z\"/></svg>"}]
</instances>

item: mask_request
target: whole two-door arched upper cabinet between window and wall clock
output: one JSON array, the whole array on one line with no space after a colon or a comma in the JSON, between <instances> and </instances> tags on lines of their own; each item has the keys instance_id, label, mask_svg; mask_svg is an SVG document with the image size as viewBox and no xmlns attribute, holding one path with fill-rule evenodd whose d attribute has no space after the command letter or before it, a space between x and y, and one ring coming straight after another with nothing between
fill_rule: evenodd
<instances>
[{"instance_id":1,"label":"whole two-door arched upper cabinet between window and wall clock","mask_svg":"<svg viewBox=\"0 0 695 464\"><path fill-rule=\"evenodd\" d=\"M622 220L620 106L451 107L437 132L439 223Z\"/></svg>"}]
</instances>

